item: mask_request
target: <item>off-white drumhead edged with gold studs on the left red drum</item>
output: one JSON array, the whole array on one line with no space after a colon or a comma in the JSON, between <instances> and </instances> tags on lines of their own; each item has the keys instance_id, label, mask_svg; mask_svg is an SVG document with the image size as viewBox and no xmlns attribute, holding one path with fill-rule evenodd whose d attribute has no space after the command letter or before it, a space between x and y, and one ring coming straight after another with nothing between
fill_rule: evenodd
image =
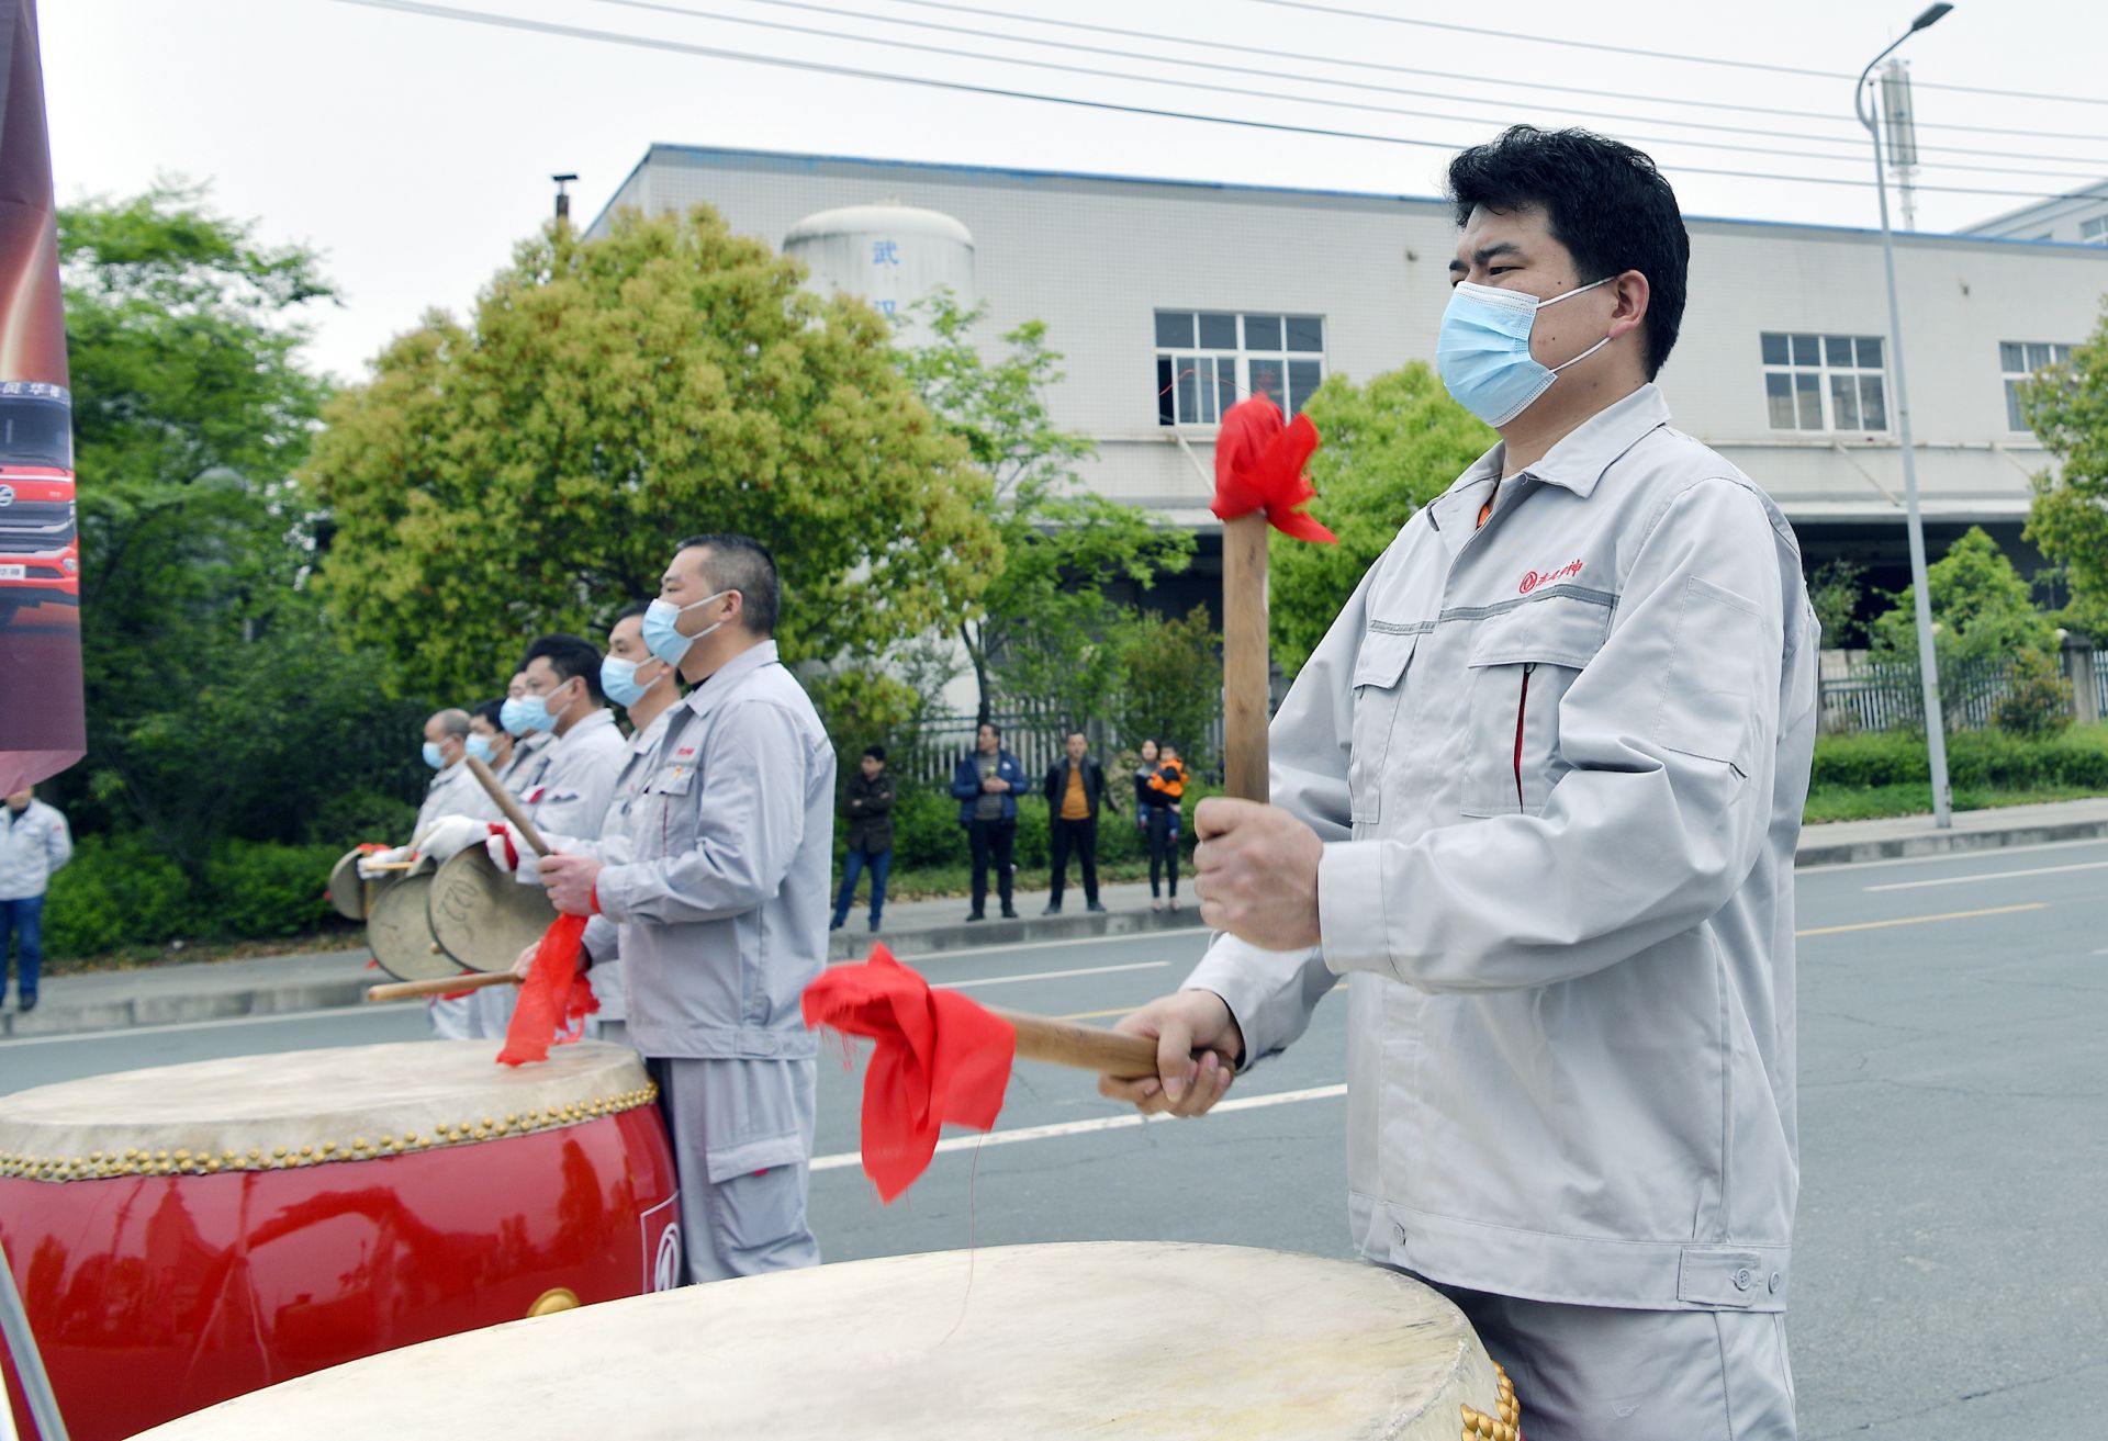
<instances>
[{"instance_id":1,"label":"off-white drumhead edged with gold studs on the left red drum","mask_svg":"<svg viewBox=\"0 0 2108 1441\"><path fill-rule=\"evenodd\" d=\"M282 1169L497 1140L643 1106L626 1045L500 1066L497 1041L344 1045L124 1070L0 1095L0 1176Z\"/></svg>"}]
</instances>

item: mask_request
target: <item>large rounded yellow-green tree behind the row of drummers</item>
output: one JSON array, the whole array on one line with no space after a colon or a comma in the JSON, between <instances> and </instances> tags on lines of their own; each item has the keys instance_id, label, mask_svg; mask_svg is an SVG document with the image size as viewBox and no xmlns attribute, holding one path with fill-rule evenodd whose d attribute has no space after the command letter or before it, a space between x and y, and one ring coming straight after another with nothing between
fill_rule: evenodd
<instances>
[{"instance_id":1,"label":"large rounded yellow-green tree behind the row of drummers","mask_svg":"<svg viewBox=\"0 0 2108 1441\"><path fill-rule=\"evenodd\" d=\"M696 531L765 541L786 659L856 664L970 609L989 482L894 369L890 331L708 206L554 223L460 324L396 339L306 468L323 594L401 683L489 691L521 643L594 634Z\"/></svg>"}]
</instances>

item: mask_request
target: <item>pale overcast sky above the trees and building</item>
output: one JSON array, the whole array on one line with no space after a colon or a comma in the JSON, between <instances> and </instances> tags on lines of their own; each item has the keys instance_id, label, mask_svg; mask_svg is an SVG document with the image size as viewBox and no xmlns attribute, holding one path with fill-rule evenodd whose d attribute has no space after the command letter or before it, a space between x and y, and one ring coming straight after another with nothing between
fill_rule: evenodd
<instances>
[{"instance_id":1,"label":"pale overcast sky above the trees and building","mask_svg":"<svg viewBox=\"0 0 2108 1441\"><path fill-rule=\"evenodd\" d=\"M266 240L314 244L344 289L344 305L318 316L312 360L346 379L363 375L367 358L390 335L415 324L426 308L466 310L489 274L506 263L512 242L548 215L550 173L580 175L575 206L584 221L599 213L651 141L1436 194L1446 147L1482 139L1514 120L1533 120L1589 124L1632 139L1663 162L1693 215L1874 225L1870 187L1811 183L1811 177L1868 181L1872 175L1866 135L1851 120L1849 78L1665 61L1383 17L1849 76L1895 38L1920 4L1330 4L1362 15L1313 13L1280 0L1065 0L1058 6L1046 0L451 0L441 8L1433 145L965 95L344 0L42 0L61 202L133 194L156 175L188 177L209 181L213 204L255 219ZM1071 27L1020 19L1027 15ZM885 19L921 21L923 27ZM784 25L833 36L780 29ZM928 25L993 32L993 38ZM1075 25L1326 59L1273 61ZM976 57L928 55L875 40L949 46ZM1918 82L1920 145L1994 152L1927 154L1927 162L1941 158L1986 169L1927 166L1925 185L2055 194L2085 183L2078 177L2108 175L2108 86L2100 78L2108 55L2108 6L2100 0L1963 0L1904 53ZM984 57L1223 88L1098 78ZM1208 65L1263 70L1271 78ZM1318 84L1313 76L1368 88ZM2093 97L2093 103L1971 95L1931 84ZM1256 91L1343 105L1269 99ZM1804 114L1764 114L1771 110ZM2028 166L2062 175L2028 173ZM1724 177L1703 169L1800 179ZM1954 230L2019 204L2026 200L2015 196L1927 192L1918 223Z\"/></svg>"}]
</instances>

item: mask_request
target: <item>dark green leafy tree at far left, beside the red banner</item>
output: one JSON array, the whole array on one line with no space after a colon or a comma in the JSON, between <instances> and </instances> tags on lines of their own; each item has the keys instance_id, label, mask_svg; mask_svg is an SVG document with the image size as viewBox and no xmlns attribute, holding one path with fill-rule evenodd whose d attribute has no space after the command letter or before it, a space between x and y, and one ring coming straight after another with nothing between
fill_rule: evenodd
<instances>
[{"instance_id":1,"label":"dark green leafy tree at far left, beside the red banner","mask_svg":"<svg viewBox=\"0 0 2108 1441\"><path fill-rule=\"evenodd\" d=\"M86 832L143 828L196 881L228 836L297 841L339 790L415 794L422 714L346 664L291 470L325 383L316 259L164 183L59 211L80 472Z\"/></svg>"}]
</instances>

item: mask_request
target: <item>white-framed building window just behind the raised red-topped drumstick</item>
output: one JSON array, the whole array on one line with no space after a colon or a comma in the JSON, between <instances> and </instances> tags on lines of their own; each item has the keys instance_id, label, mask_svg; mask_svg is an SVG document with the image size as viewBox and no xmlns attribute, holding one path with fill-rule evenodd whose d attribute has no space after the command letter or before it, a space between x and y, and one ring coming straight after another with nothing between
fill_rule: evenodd
<instances>
[{"instance_id":1,"label":"white-framed building window just behind the raised red-topped drumstick","mask_svg":"<svg viewBox=\"0 0 2108 1441\"><path fill-rule=\"evenodd\" d=\"M1214 426L1250 394L1296 415L1324 383L1324 316L1157 312L1157 423Z\"/></svg>"}]
</instances>

